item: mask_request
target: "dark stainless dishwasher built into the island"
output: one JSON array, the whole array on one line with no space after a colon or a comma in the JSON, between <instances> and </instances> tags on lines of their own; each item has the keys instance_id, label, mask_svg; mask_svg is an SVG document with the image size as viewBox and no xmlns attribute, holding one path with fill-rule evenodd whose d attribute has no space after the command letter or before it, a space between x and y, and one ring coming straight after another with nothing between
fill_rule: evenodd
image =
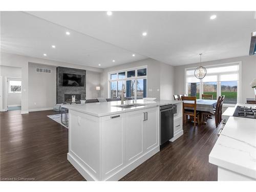
<instances>
[{"instance_id":1,"label":"dark stainless dishwasher built into the island","mask_svg":"<svg viewBox=\"0 0 256 192\"><path fill-rule=\"evenodd\" d=\"M160 145L174 137L174 114L177 106L168 104L160 106Z\"/></svg>"}]
</instances>

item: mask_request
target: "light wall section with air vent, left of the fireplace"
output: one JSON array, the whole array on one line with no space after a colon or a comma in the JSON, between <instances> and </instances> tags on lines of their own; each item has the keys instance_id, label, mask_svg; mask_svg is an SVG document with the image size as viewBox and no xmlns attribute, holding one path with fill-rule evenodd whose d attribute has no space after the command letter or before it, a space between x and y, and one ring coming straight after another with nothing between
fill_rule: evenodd
<instances>
[{"instance_id":1,"label":"light wall section with air vent, left of the fireplace","mask_svg":"<svg viewBox=\"0 0 256 192\"><path fill-rule=\"evenodd\" d=\"M38 73L36 68L50 69ZM56 67L29 63L29 111L53 109L56 104Z\"/></svg>"}]
</instances>

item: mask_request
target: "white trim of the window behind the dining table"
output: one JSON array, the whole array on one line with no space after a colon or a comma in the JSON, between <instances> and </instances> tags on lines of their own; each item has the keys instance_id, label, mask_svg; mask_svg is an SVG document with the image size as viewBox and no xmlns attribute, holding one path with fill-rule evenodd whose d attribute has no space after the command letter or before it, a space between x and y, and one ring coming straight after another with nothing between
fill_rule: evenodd
<instances>
[{"instance_id":1,"label":"white trim of the window behind the dining table","mask_svg":"<svg viewBox=\"0 0 256 192\"><path fill-rule=\"evenodd\" d=\"M216 65L208 65L208 66L204 66L206 69L207 68L215 68L215 67L224 67L224 66L233 66L233 65L238 65L239 66L239 71L238 71L238 74L239 74L239 80L238 80L238 95L237 95L237 103L242 103L242 96L241 96L241 88L242 88L242 61L236 61L236 62L228 62L228 63L220 63L220 64L216 64ZM186 76L186 72L188 70L193 70L193 69L196 69L198 66L196 67L191 67L191 68L185 68L184 71L185 71L185 93L188 94L188 87L187 87L187 76ZM221 73L221 74L232 74L232 73L237 73L237 72L229 72L229 73ZM219 73L216 73L216 74L219 74ZM211 73L210 75L216 75L215 73ZM219 81L219 76L218 76L218 79L217 79L217 97L220 96L220 93L221 93L221 86L220 84L218 85L218 83L221 83ZM200 80L200 94L199 94L199 97L200 99L202 99L202 94L203 94L203 80L201 79ZM223 103L223 106L235 106L236 104L226 104L226 103Z\"/></svg>"}]
</instances>

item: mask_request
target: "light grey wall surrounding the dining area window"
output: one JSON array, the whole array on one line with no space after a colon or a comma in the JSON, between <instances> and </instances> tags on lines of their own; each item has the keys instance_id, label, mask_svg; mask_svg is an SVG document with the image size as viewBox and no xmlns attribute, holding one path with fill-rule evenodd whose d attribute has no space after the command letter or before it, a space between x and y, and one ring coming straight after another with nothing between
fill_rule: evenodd
<instances>
[{"instance_id":1,"label":"light grey wall surrounding the dining area window","mask_svg":"<svg viewBox=\"0 0 256 192\"><path fill-rule=\"evenodd\" d=\"M250 87L250 82L256 78L256 56L234 57L228 59L221 59L215 61L202 62L202 66L217 65L221 63L242 61L242 88L241 88L241 102L245 103L246 98L253 98L254 91ZM199 63L194 63L185 66L174 67L175 77L175 92L174 94L184 94L185 91L185 68L199 66Z\"/></svg>"}]
</instances>

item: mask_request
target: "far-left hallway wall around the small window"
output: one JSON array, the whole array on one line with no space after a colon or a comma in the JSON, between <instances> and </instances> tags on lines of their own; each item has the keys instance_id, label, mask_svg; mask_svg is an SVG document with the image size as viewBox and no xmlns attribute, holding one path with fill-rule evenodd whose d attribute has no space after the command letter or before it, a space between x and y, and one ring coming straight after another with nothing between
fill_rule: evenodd
<instances>
[{"instance_id":1,"label":"far-left hallway wall around the small window","mask_svg":"<svg viewBox=\"0 0 256 192\"><path fill-rule=\"evenodd\" d=\"M22 78L22 69L15 67L0 66L0 76L3 77L3 82L1 84L3 88L3 107L0 110L5 111L7 110L7 106L11 105L20 106L22 104L22 94L8 94L8 83L6 83L5 81L6 77Z\"/></svg>"}]
</instances>

